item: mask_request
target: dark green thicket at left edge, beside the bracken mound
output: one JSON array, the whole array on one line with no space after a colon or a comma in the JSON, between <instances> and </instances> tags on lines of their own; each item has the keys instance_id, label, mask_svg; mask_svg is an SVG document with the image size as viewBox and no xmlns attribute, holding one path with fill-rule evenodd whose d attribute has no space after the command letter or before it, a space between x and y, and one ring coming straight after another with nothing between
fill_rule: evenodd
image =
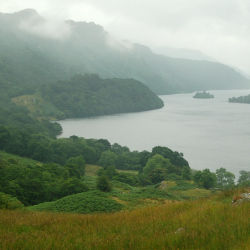
<instances>
[{"instance_id":1,"label":"dark green thicket at left edge, beside the bracken mound","mask_svg":"<svg viewBox=\"0 0 250 250\"><path fill-rule=\"evenodd\" d=\"M0 152L0 192L17 197L25 205L86 191L79 177L79 172L55 163L41 164Z\"/></svg>"}]
</instances>

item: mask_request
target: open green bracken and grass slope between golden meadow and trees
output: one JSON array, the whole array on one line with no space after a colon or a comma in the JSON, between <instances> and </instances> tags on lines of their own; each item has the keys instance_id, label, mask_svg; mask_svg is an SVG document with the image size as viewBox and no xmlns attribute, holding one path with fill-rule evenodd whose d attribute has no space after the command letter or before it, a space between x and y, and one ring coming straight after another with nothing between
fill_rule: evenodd
<instances>
[{"instance_id":1,"label":"open green bracken and grass slope between golden meadow and trees","mask_svg":"<svg viewBox=\"0 0 250 250\"><path fill-rule=\"evenodd\" d=\"M96 190L97 176L89 170L91 167L90 165L87 166L86 175L88 175L84 178L84 184L89 188L89 191L69 195L52 202L44 202L28 209L83 214L112 212L157 206L169 201L197 200L209 197L212 194L212 191L196 188L194 184L188 181L171 181L145 187L133 187L115 180L111 182L112 191L104 193Z\"/></svg>"}]
</instances>

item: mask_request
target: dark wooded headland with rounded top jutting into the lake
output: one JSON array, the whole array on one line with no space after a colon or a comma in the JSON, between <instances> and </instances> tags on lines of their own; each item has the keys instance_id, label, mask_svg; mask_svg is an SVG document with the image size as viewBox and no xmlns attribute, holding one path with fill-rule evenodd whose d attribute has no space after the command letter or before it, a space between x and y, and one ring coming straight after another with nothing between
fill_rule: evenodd
<instances>
[{"instance_id":1,"label":"dark wooded headland with rounded top jutting into the lake","mask_svg":"<svg viewBox=\"0 0 250 250\"><path fill-rule=\"evenodd\" d=\"M162 100L142 83L78 75L41 88L42 96L66 118L136 112L163 107Z\"/></svg>"}]
</instances>

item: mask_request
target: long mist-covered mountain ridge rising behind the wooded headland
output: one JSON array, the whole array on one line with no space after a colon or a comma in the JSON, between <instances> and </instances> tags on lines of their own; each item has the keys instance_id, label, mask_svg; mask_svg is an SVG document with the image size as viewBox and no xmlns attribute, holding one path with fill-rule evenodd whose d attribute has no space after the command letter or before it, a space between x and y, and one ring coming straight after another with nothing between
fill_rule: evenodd
<instances>
[{"instance_id":1,"label":"long mist-covered mountain ridge rising behind the wooded headland","mask_svg":"<svg viewBox=\"0 0 250 250\"><path fill-rule=\"evenodd\" d=\"M157 55L146 46L114 40L95 23L60 23L24 10L0 14L0 32L0 81L13 85L13 95L84 73L134 78L157 94L250 86L231 67Z\"/></svg>"}]
</instances>

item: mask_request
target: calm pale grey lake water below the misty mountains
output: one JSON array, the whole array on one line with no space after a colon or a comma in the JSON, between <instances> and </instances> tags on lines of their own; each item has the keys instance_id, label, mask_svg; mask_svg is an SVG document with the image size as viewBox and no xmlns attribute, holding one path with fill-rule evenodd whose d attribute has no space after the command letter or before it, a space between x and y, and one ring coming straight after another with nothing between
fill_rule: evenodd
<instances>
[{"instance_id":1,"label":"calm pale grey lake water below the misty mountains","mask_svg":"<svg viewBox=\"0 0 250 250\"><path fill-rule=\"evenodd\" d=\"M183 152L194 169L249 171L250 105L227 99L250 90L209 92L214 99L168 95L161 96L165 107L159 110L60 121L61 137L105 138L132 150L167 146Z\"/></svg>"}]
</instances>

